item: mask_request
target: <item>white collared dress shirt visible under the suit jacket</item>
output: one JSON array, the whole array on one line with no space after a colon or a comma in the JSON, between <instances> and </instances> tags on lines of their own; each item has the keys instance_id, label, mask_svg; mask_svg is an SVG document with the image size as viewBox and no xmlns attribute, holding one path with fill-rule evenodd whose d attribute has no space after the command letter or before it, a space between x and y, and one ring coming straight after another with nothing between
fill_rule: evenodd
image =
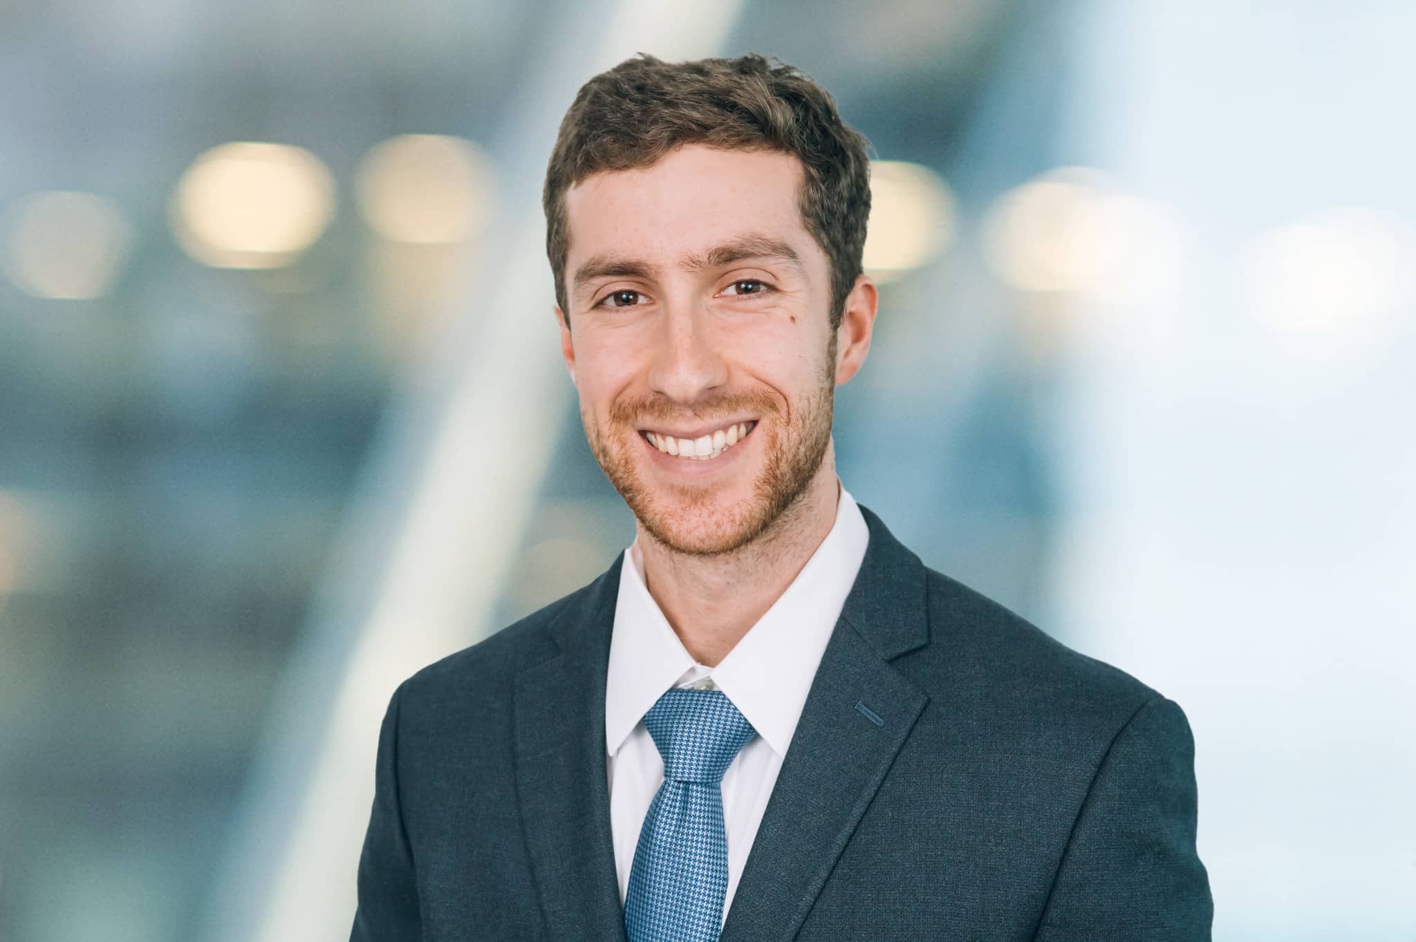
<instances>
[{"instance_id":1,"label":"white collared dress shirt visible under the suit jacket","mask_svg":"<svg viewBox=\"0 0 1416 942\"><path fill-rule=\"evenodd\" d=\"M671 687L716 686L758 731L722 778L728 830L728 892L722 918L726 922L811 679L865 559L868 540L865 518L841 488L831 532L772 608L716 668L694 662L649 594L639 540L624 553L605 689L610 829L622 904L639 832L664 782L664 760L643 717Z\"/></svg>"}]
</instances>

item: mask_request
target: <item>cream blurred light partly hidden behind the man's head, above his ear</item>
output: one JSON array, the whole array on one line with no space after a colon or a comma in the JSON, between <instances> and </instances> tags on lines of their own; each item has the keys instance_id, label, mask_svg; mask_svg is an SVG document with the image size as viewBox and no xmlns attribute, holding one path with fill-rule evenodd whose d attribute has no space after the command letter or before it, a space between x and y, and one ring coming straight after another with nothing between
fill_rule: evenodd
<instances>
[{"instance_id":1,"label":"cream blurred light partly hidden behind the man's head, above his ear","mask_svg":"<svg viewBox=\"0 0 1416 942\"><path fill-rule=\"evenodd\" d=\"M954 198L937 174L898 160L871 164L864 266L877 281L918 269L949 248L953 235Z\"/></svg>"}]
</instances>

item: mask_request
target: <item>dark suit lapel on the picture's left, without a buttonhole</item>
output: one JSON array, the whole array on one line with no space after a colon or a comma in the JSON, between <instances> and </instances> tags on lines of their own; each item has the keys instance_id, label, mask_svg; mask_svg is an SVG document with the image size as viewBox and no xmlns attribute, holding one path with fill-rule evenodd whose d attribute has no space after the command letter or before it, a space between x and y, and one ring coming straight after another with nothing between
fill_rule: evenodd
<instances>
[{"instance_id":1,"label":"dark suit lapel on the picture's left, without a buttonhole","mask_svg":"<svg viewBox=\"0 0 1416 942\"><path fill-rule=\"evenodd\" d=\"M566 604L548 628L559 653L515 682L517 795L551 939L624 939L605 761L619 573L616 560Z\"/></svg>"}]
</instances>

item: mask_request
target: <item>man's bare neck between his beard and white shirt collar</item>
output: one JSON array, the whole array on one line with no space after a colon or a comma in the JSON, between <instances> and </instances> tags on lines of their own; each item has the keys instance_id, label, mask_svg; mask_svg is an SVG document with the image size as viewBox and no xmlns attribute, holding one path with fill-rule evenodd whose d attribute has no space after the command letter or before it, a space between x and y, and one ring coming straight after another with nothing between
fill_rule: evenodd
<instances>
[{"instance_id":1,"label":"man's bare neck between his beard and white shirt collar","mask_svg":"<svg viewBox=\"0 0 1416 942\"><path fill-rule=\"evenodd\" d=\"M677 553L639 526L644 583L698 663L714 668L787 590L835 523L834 443L801 498L732 553Z\"/></svg>"}]
</instances>

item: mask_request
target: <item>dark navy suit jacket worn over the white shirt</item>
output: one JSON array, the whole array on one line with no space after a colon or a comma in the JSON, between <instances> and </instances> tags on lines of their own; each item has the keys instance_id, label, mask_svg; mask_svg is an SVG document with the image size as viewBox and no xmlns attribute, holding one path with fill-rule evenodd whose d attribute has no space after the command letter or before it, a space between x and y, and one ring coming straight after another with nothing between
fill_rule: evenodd
<instances>
[{"instance_id":1,"label":"dark navy suit jacket worn over the white shirt","mask_svg":"<svg viewBox=\"0 0 1416 942\"><path fill-rule=\"evenodd\" d=\"M1180 707L926 569L874 513L724 942L1209 939ZM620 563L394 694L355 942L623 942Z\"/></svg>"}]
</instances>

